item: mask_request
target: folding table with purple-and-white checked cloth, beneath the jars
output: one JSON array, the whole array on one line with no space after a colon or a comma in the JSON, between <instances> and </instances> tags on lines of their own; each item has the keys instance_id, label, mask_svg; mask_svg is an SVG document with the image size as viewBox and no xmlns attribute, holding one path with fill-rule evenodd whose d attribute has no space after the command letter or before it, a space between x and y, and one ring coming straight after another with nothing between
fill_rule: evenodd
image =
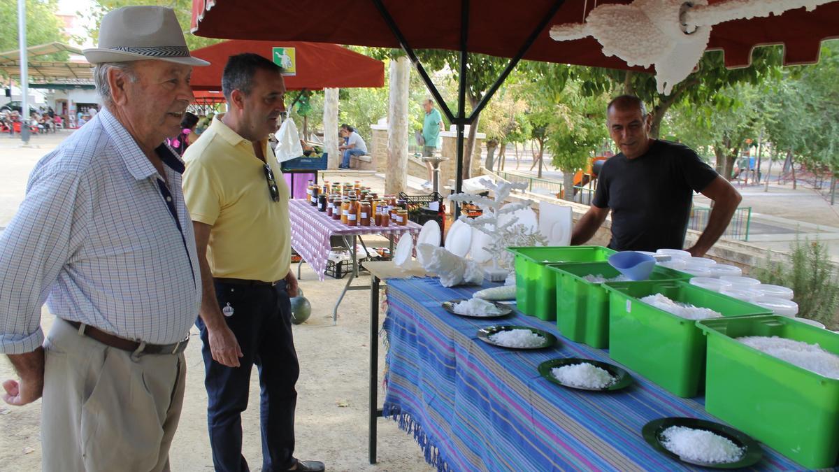
<instances>
[{"instance_id":1,"label":"folding table with purple-and-white checked cloth, beneath the jars","mask_svg":"<svg viewBox=\"0 0 839 472\"><path fill-rule=\"evenodd\" d=\"M353 279L358 275L358 260L356 257L356 244L359 236L363 234L383 234L390 239L391 254L393 254L393 239L397 236L410 233L414 240L422 228L419 224L409 221L404 226L391 224L388 227L381 226L349 226L326 216L326 212L317 211L305 200L289 200L289 218L291 226L291 246L300 254L302 260L311 265L312 270L318 275L320 281L324 280L324 271L329 260L329 253L332 249L330 240L332 236L341 236L345 240L352 237L352 244L349 245L352 254L352 271L349 280L338 296L335 308L332 311L332 323L337 322L338 306L347 291L367 290L370 286L351 286ZM347 241L348 242L348 241ZM300 275L300 266L298 266Z\"/></svg>"}]
</instances>

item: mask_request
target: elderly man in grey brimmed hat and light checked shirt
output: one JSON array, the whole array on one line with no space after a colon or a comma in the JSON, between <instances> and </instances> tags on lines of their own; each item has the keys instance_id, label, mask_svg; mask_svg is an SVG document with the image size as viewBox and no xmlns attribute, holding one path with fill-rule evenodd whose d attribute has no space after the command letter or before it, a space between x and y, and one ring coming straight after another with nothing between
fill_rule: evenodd
<instances>
[{"instance_id":1,"label":"elderly man in grey brimmed hat and light checked shirt","mask_svg":"<svg viewBox=\"0 0 839 472\"><path fill-rule=\"evenodd\" d=\"M201 275L163 143L208 63L160 7L107 13L84 52L105 107L35 165L0 235L0 352L19 376L3 399L43 396L44 470L168 470Z\"/></svg>"}]
</instances>

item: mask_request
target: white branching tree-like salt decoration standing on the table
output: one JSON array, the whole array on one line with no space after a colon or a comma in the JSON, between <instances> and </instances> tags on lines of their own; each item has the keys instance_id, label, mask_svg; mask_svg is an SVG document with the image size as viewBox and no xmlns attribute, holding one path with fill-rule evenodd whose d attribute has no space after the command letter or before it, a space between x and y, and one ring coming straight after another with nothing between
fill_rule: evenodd
<instances>
[{"instance_id":1,"label":"white branching tree-like salt decoration standing on the table","mask_svg":"<svg viewBox=\"0 0 839 472\"><path fill-rule=\"evenodd\" d=\"M538 230L517 224L519 218L514 215L501 226L498 226L499 216L518 212L530 207L533 203L526 201L506 204L505 202L513 190L526 189L527 183L498 182L496 184L489 179L481 179L480 183L492 191L492 198L470 193L458 193L451 195L449 200L452 202L472 202L481 208L483 214L480 217L466 218L461 216L460 221L471 226L473 231L478 230L490 236L492 242L483 249L492 254L492 267L494 269L512 270L513 254L508 253L507 248L509 246L544 246L548 244L548 240Z\"/></svg>"}]
</instances>

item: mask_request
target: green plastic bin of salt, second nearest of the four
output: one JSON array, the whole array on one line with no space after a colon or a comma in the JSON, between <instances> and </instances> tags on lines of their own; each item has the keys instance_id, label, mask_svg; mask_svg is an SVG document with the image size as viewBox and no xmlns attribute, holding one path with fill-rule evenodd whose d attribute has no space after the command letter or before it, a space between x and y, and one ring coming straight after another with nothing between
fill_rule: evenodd
<instances>
[{"instance_id":1,"label":"green plastic bin of salt, second nearest of the four","mask_svg":"<svg viewBox=\"0 0 839 472\"><path fill-rule=\"evenodd\" d=\"M705 338L696 321L641 302L661 293L675 302L711 308L724 317L769 310L681 281L609 282L609 356L676 396L696 396L705 383Z\"/></svg>"}]
</instances>

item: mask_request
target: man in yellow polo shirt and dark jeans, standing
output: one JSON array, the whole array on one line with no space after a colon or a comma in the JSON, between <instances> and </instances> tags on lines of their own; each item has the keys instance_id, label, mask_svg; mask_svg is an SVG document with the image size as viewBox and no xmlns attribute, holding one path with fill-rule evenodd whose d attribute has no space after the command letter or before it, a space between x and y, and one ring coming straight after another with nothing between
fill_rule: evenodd
<instances>
[{"instance_id":1,"label":"man in yellow polo shirt and dark jeans, standing","mask_svg":"<svg viewBox=\"0 0 839 472\"><path fill-rule=\"evenodd\" d=\"M294 384L300 373L291 333L289 190L268 134L285 110L279 66L233 55L221 77L229 111L186 149L184 197L195 227L203 299L207 422L216 471L248 470L242 412L253 364L259 369L262 470L323 470L294 459Z\"/></svg>"}]
</instances>

